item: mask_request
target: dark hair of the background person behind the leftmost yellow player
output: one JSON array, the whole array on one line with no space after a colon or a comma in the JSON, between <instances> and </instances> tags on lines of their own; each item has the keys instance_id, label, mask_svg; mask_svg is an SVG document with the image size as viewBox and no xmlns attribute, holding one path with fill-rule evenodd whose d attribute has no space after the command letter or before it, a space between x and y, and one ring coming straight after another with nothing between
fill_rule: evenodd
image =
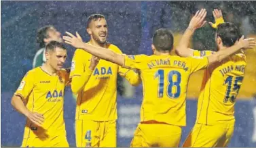
<instances>
[{"instance_id":1,"label":"dark hair of the background person behind the leftmost yellow player","mask_svg":"<svg viewBox=\"0 0 256 148\"><path fill-rule=\"evenodd\" d=\"M41 48L45 47L45 42L43 41L43 39L46 39L49 37L48 30L50 28L54 28L54 26L52 26L52 25L43 26L37 30L37 43L39 43L39 46Z\"/></svg>"}]
</instances>

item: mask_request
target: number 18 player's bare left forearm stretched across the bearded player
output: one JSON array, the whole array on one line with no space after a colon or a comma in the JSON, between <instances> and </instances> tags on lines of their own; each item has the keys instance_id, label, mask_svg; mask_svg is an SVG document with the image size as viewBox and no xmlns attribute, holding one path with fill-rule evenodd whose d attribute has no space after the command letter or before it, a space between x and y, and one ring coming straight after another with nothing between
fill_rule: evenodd
<instances>
[{"instance_id":1,"label":"number 18 player's bare left forearm stretched across the bearded player","mask_svg":"<svg viewBox=\"0 0 256 148\"><path fill-rule=\"evenodd\" d=\"M102 47L94 47L92 45L88 45L84 43L81 47L86 52L99 57L100 59L105 59L107 61L111 61L120 66L124 66L124 56L118 53L115 53L109 49L102 48Z\"/></svg>"}]
</instances>

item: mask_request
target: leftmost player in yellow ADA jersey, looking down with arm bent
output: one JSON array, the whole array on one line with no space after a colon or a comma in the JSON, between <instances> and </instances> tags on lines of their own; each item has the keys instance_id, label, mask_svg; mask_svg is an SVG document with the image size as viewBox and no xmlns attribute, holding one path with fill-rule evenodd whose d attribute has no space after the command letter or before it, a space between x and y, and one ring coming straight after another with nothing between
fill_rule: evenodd
<instances>
[{"instance_id":1,"label":"leftmost player in yellow ADA jersey, looking down with arm bent","mask_svg":"<svg viewBox=\"0 0 256 148\"><path fill-rule=\"evenodd\" d=\"M63 116L69 72L61 69L67 49L51 41L45 57L43 66L26 73L12 97L14 108L27 118L21 147L69 147Z\"/></svg>"}]
</instances>

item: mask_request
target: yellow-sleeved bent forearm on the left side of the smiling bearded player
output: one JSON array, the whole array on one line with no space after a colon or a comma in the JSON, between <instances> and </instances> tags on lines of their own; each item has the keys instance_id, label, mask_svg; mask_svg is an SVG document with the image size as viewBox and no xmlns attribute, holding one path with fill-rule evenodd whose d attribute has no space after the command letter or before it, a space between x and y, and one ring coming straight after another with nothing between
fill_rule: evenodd
<instances>
[{"instance_id":1,"label":"yellow-sleeved bent forearm on the left side of the smiling bearded player","mask_svg":"<svg viewBox=\"0 0 256 148\"><path fill-rule=\"evenodd\" d=\"M92 74L92 70L86 70L81 76L73 76L71 81L71 90L73 93L77 94L81 89L84 88L86 83L88 82L90 76Z\"/></svg>"}]
</instances>

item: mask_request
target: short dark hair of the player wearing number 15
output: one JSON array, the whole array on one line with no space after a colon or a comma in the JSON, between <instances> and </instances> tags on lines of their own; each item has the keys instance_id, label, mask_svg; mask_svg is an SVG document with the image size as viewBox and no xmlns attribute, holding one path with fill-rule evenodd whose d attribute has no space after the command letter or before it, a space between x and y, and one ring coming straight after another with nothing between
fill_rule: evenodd
<instances>
[{"instance_id":1,"label":"short dark hair of the player wearing number 15","mask_svg":"<svg viewBox=\"0 0 256 148\"><path fill-rule=\"evenodd\" d=\"M217 36L221 38L225 47L230 47L240 39L242 34L240 34L236 25L230 22L225 22L217 26Z\"/></svg>"}]
</instances>

